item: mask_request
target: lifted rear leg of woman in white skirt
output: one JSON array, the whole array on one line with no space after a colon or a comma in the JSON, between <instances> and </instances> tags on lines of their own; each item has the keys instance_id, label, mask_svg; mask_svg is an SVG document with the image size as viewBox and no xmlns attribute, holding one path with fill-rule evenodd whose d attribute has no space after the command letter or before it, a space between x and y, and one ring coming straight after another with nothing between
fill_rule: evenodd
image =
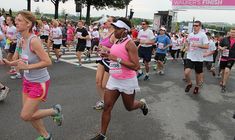
<instances>
[{"instance_id":1,"label":"lifted rear leg of woman in white skirt","mask_svg":"<svg viewBox=\"0 0 235 140\"><path fill-rule=\"evenodd\" d=\"M126 110L132 111L142 107L142 103L135 100L135 93L130 95L122 93L121 96Z\"/></svg>"}]
</instances>

